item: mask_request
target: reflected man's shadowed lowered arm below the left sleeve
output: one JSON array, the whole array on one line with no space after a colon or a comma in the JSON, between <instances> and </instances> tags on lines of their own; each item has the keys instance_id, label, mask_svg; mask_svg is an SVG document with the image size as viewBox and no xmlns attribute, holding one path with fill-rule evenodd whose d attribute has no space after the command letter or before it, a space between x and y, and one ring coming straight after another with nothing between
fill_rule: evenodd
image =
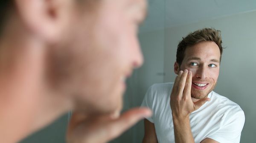
<instances>
[{"instance_id":1,"label":"reflected man's shadowed lowered arm below the left sleeve","mask_svg":"<svg viewBox=\"0 0 256 143\"><path fill-rule=\"evenodd\" d=\"M143 137L143 143L158 143L154 123L144 119L144 129L145 135Z\"/></svg>"}]
</instances>

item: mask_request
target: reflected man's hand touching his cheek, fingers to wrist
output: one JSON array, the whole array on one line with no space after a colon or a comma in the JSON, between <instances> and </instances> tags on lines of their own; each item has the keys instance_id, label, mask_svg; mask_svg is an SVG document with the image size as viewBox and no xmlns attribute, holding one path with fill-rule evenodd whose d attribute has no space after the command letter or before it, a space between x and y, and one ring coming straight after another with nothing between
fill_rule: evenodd
<instances>
[{"instance_id":1,"label":"reflected man's hand touching his cheek, fingers to wrist","mask_svg":"<svg viewBox=\"0 0 256 143\"><path fill-rule=\"evenodd\" d=\"M200 108L209 98L202 98L197 102L193 102L191 98L192 72L184 70L179 72L172 88L170 105L173 118L185 119L189 115Z\"/></svg>"}]
</instances>

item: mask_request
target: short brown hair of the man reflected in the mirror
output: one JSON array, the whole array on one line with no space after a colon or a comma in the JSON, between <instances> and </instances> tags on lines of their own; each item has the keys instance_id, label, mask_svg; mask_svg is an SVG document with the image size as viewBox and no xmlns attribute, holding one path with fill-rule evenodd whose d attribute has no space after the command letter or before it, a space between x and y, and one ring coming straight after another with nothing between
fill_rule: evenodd
<instances>
[{"instance_id":1,"label":"short brown hair of the man reflected in the mirror","mask_svg":"<svg viewBox=\"0 0 256 143\"><path fill-rule=\"evenodd\" d=\"M176 62L179 65L181 65L185 56L186 48L204 41L215 42L218 45L222 55L223 47L221 45L222 44L221 31L216 30L214 28L203 28L193 33L191 32L185 38L183 38L183 40L179 42L177 53L176 53ZM220 61L221 61L221 56L220 56Z\"/></svg>"}]
</instances>

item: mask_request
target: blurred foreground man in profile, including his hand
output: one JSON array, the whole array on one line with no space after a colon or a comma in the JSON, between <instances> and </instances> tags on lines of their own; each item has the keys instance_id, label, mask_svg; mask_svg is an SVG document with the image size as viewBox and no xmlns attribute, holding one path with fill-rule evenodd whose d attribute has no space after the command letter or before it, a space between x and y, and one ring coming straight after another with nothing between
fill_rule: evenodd
<instances>
[{"instance_id":1,"label":"blurred foreground man in profile, including his hand","mask_svg":"<svg viewBox=\"0 0 256 143\"><path fill-rule=\"evenodd\" d=\"M150 116L119 116L125 79L143 63L137 28L146 8L145 0L1 0L1 143L70 109L70 143L105 143Z\"/></svg>"}]
</instances>

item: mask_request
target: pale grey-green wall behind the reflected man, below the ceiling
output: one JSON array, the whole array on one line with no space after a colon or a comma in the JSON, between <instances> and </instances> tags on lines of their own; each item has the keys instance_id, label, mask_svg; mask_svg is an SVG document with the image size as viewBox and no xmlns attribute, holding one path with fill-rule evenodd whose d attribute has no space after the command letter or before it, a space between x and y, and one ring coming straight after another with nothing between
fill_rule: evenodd
<instances>
[{"instance_id":1,"label":"pale grey-green wall behind the reflected man, below the ceiling","mask_svg":"<svg viewBox=\"0 0 256 143\"><path fill-rule=\"evenodd\" d=\"M238 103L245 113L241 143L255 143L256 130L256 12L236 14L165 31L164 82L174 81L173 64L178 42L190 31L212 27L221 30L223 50L215 91Z\"/></svg>"}]
</instances>

